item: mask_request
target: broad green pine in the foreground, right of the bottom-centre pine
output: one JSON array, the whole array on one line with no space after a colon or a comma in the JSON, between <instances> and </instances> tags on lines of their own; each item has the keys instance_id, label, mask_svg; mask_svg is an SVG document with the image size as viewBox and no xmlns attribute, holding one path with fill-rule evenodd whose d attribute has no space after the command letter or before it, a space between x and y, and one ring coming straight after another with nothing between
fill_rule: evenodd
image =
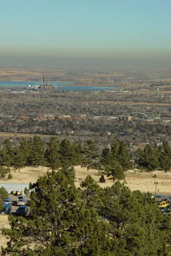
<instances>
[{"instance_id":1,"label":"broad green pine in the foreground, right of the bottom-centre pine","mask_svg":"<svg viewBox=\"0 0 171 256\"><path fill-rule=\"evenodd\" d=\"M149 205L145 195L131 193L116 182L105 189L101 214L110 223L108 232L116 255L163 255L167 242L159 234L163 216L156 202Z\"/></svg>"}]
</instances>

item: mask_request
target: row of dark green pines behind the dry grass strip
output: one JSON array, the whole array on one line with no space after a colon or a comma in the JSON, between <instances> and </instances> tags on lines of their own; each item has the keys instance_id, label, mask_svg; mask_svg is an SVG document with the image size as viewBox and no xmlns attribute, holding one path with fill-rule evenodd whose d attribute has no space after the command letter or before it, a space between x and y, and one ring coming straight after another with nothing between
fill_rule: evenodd
<instances>
[{"instance_id":1,"label":"row of dark green pines behind the dry grass strip","mask_svg":"<svg viewBox=\"0 0 171 256\"><path fill-rule=\"evenodd\" d=\"M144 150L138 149L133 157L131 160L127 144L120 140L114 140L110 147L103 148L100 156L98 144L92 140L81 145L65 139L59 142L53 137L44 147L40 136L33 136L27 140L21 139L14 147L6 139L0 150L0 179L9 173L5 167L17 169L24 166L48 166L54 170L81 164L81 167L87 167L88 170L105 168L113 182L115 179L124 179L124 172L132 167L132 162L147 171L160 168L166 172L171 168L171 147L167 142L160 147L147 144Z\"/></svg>"}]
</instances>

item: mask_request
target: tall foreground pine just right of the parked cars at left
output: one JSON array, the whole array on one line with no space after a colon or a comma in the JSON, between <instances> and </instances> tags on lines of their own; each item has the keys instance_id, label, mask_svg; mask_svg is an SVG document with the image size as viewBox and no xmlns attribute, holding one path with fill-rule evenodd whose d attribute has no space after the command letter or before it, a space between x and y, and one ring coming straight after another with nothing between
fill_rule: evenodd
<instances>
[{"instance_id":1,"label":"tall foreground pine just right of the parked cars at left","mask_svg":"<svg viewBox=\"0 0 171 256\"><path fill-rule=\"evenodd\" d=\"M18 220L11 216L13 230L5 231L11 240L4 253L30 255L30 249L26 248L26 245L34 242L37 243L37 249L32 254L68 255L75 241L75 237L70 235L70 230L74 225L74 213L80 191L61 171L48 172L35 184L30 185L30 189L33 191L30 195L29 220L20 217L18 225ZM46 254L47 252L50 254Z\"/></svg>"}]
</instances>

